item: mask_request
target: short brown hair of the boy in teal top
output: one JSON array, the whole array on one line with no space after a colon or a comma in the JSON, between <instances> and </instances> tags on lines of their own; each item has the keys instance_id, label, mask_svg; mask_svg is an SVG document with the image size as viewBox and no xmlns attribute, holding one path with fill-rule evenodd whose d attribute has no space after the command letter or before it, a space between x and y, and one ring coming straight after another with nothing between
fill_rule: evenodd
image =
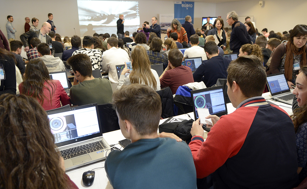
<instances>
[{"instance_id":1,"label":"short brown hair of the boy in teal top","mask_svg":"<svg viewBox=\"0 0 307 189\"><path fill-rule=\"evenodd\" d=\"M157 133L162 105L156 91L134 83L122 86L112 98L120 119L130 121L139 135Z\"/></svg>"}]
</instances>

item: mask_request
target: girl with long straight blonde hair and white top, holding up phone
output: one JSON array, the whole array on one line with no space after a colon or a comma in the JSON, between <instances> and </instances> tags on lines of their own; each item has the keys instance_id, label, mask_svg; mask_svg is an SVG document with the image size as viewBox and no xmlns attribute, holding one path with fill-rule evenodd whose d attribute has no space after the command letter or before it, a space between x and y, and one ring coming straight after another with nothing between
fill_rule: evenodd
<instances>
[{"instance_id":1,"label":"girl with long straight blonde hair and white top, holding up phone","mask_svg":"<svg viewBox=\"0 0 307 189\"><path fill-rule=\"evenodd\" d=\"M125 63L125 68L122 70L122 73L119 76L119 80L117 82L117 89L120 89L122 85L142 83L150 86L155 91L159 91L161 89L159 76L156 70L150 69L150 62L146 53L146 49L143 46L136 46L134 51L131 53L131 59L133 71L127 77L125 77L125 74L129 71Z\"/></svg>"}]
</instances>

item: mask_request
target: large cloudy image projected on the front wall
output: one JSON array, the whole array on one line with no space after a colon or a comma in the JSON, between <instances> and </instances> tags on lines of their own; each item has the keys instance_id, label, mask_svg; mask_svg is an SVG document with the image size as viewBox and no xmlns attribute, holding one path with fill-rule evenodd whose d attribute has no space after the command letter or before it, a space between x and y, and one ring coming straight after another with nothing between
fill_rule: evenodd
<instances>
[{"instance_id":1,"label":"large cloudy image projected on the front wall","mask_svg":"<svg viewBox=\"0 0 307 189\"><path fill-rule=\"evenodd\" d=\"M117 34L116 21L124 15L124 31L132 35L140 25L138 2L136 1L88 1L78 0L81 36L94 33Z\"/></svg>"}]
</instances>

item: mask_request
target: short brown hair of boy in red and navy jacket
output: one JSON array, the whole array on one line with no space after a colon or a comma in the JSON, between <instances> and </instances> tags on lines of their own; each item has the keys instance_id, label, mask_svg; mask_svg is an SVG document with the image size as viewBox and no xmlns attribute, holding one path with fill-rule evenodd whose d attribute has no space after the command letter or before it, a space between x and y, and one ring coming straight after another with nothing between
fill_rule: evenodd
<instances>
[{"instance_id":1,"label":"short brown hair of boy in red and navy jacket","mask_svg":"<svg viewBox=\"0 0 307 189\"><path fill-rule=\"evenodd\" d=\"M227 81L235 81L246 98L261 96L266 86L266 69L255 55L240 56L230 62Z\"/></svg>"}]
</instances>

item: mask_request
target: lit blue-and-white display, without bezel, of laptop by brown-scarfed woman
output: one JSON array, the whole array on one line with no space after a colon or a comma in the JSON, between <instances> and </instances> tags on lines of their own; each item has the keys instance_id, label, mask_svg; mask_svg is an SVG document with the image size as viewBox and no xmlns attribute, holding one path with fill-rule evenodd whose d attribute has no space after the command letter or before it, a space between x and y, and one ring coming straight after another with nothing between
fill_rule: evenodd
<instances>
[{"instance_id":1,"label":"lit blue-and-white display, without bezel, of laptop by brown-scarfed woman","mask_svg":"<svg viewBox=\"0 0 307 189\"><path fill-rule=\"evenodd\" d=\"M267 77L271 93L289 90L287 80L283 74Z\"/></svg>"}]
</instances>

